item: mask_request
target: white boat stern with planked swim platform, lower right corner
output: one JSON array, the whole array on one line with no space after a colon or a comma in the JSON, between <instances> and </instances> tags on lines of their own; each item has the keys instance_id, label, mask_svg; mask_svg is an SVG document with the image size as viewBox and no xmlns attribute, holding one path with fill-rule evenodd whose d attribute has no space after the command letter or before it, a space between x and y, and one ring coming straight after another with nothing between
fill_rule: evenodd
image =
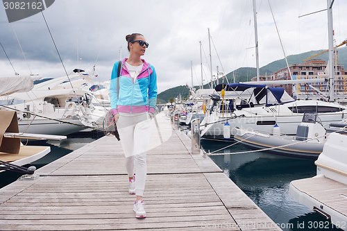
<instances>
[{"instance_id":1,"label":"white boat stern with planked swim platform, lower right corner","mask_svg":"<svg viewBox=\"0 0 347 231\"><path fill-rule=\"evenodd\" d=\"M328 136L316 164L316 176L290 182L289 194L299 203L347 230L347 130Z\"/></svg>"}]
</instances>

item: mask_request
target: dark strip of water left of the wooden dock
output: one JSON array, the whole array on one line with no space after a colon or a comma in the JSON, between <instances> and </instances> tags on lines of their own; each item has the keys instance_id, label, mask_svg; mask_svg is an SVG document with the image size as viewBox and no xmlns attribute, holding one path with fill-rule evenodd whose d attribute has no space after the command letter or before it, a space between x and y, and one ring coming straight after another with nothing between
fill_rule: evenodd
<instances>
[{"instance_id":1,"label":"dark strip of water left of the wooden dock","mask_svg":"<svg viewBox=\"0 0 347 231\"><path fill-rule=\"evenodd\" d=\"M29 142L27 145L30 145L30 146L50 146L51 152L45 155L44 157L42 157L41 159L36 160L35 162L24 165L24 166L28 167L33 165L36 167L36 169L40 169L42 166L49 164L50 162L53 162L54 160L58 160L60 157L63 157L64 155L67 155L71 153L72 151L75 151L76 149L85 146L86 144L94 142L96 139L99 139L99 137L95 135L95 133L78 132L73 135L69 135L66 140L63 140L61 142L59 141ZM1 172L0 173L0 189L14 182L18 178L20 178L22 175L23 175L22 173L14 173L9 171Z\"/></svg>"}]
</instances>

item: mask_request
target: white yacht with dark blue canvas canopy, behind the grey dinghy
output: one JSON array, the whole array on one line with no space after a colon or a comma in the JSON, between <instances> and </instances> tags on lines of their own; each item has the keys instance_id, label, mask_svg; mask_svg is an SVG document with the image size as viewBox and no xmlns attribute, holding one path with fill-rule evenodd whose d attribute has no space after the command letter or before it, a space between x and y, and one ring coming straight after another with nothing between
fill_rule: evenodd
<instances>
[{"instance_id":1,"label":"white yacht with dark blue canvas canopy, behind the grey dinghy","mask_svg":"<svg viewBox=\"0 0 347 231\"><path fill-rule=\"evenodd\" d=\"M223 126L228 122L230 136L236 127L271 132L277 124L285 135L296 135L304 112L317 112L323 126L338 123L347 116L347 107L324 101L296 101L282 87L267 87L246 83L217 85L205 119L201 122L201 137L223 139ZM238 92L234 98L222 100L221 90ZM244 92L249 98L244 98ZM222 103L223 101L223 103Z\"/></svg>"}]
</instances>

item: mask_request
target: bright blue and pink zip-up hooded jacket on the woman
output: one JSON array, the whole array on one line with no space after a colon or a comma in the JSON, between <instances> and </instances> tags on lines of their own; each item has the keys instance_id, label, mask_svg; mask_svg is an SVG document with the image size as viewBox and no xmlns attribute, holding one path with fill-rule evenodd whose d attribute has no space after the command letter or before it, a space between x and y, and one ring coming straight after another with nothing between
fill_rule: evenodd
<instances>
[{"instance_id":1,"label":"bright blue and pink zip-up hooded jacket on the woman","mask_svg":"<svg viewBox=\"0 0 347 231\"><path fill-rule=\"evenodd\" d=\"M121 73L119 76L119 96L117 93L118 62L113 65L110 81L110 99L113 114L118 112L141 113L151 112L154 114L157 103L157 74L152 65L145 60L142 71L134 80L131 78L124 62L121 61Z\"/></svg>"}]
</instances>

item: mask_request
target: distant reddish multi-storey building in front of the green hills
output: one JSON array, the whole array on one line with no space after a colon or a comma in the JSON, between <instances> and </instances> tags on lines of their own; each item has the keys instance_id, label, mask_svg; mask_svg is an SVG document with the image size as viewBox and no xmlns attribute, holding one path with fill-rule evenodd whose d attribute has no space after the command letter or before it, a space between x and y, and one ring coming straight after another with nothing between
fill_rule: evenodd
<instances>
[{"instance_id":1,"label":"distant reddish multi-storey building in front of the green hills","mask_svg":"<svg viewBox=\"0 0 347 231\"><path fill-rule=\"evenodd\" d=\"M321 59L311 59L303 64L289 65L291 76L293 79L312 79L312 78L325 78L329 79L329 72L325 70L327 64ZM344 65L335 65L335 96L337 98L343 98L346 91L346 78L347 70L344 69ZM270 76L260 76L260 80L289 80L290 75L288 68L282 68L279 71L271 74ZM257 77L252 78L252 81L256 81ZM299 98L307 98L307 96L316 96L316 92L309 85L316 87L321 92L329 95L329 83L298 83L296 84L296 95ZM293 96L292 85L280 85Z\"/></svg>"}]
</instances>

